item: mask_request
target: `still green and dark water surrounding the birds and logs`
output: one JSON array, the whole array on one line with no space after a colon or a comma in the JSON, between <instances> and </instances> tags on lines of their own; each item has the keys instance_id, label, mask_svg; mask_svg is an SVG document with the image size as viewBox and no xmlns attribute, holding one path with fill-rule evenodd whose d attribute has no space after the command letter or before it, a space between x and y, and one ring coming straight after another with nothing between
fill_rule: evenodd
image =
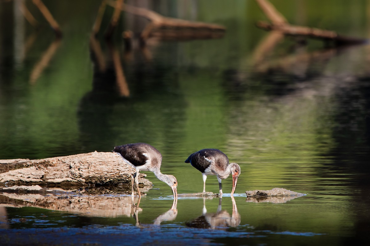
<instances>
[{"instance_id":1,"label":"still green and dark water surrounding the birds and logs","mask_svg":"<svg viewBox=\"0 0 370 246\"><path fill-rule=\"evenodd\" d=\"M162 172L176 176L178 192L195 193L202 191L202 175L184 160L217 148L241 167L237 194L228 194L229 178L222 199L180 198L171 209L171 189L148 172L154 187L136 212L131 197L119 192L56 194L60 207L41 195L2 194L1 243L370 242L369 46L324 49L320 41L304 46L286 38L265 55L269 33L254 25L265 20L254 1L156 1L147 7L227 31L218 39L152 40L147 49L134 45L127 53L121 32L140 30L142 19L124 15L108 43L104 31L90 38L100 1L63 2L45 0L60 22L60 41L48 28L36 32L17 12L19 1L0 2L0 159L146 142L162 153ZM369 33L368 1L273 3L294 24L363 38ZM107 7L103 27L111 14ZM35 41L27 46L30 38ZM125 91L117 83L117 54ZM306 196L282 203L245 197L246 190L275 187ZM208 177L206 190L218 192L216 177Z\"/></svg>"}]
</instances>

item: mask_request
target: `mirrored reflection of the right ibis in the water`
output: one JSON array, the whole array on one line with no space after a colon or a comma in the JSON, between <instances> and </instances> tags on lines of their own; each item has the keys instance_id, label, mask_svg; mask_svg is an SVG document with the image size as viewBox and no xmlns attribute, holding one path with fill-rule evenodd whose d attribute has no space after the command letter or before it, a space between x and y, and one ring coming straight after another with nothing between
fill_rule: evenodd
<instances>
[{"instance_id":1,"label":"mirrored reflection of the right ibis in the water","mask_svg":"<svg viewBox=\"0 0 370 246\"><path fill-rule=\"evenodd\" d=\"M227 229L229 227L236 227L240 224L240 214L236 208L235 198L231 196L232 201L232 215L226 210L222 210L222 197L219 198L219 204L216 213L207 213L205 207L205 198L203 198L203 212L202 215L193 221L186 223L186 226L203 229Z\"/></svg>"}]
</instances>

